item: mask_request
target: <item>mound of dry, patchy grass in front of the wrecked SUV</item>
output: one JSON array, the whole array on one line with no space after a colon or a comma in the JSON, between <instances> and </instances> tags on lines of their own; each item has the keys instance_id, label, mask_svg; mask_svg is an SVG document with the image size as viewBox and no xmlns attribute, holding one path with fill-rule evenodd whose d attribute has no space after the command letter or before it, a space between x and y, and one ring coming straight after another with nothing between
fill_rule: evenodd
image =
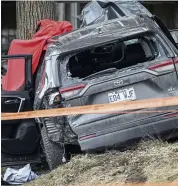
<instances>
[{"instance_id":1,"label":"mound of dry, patchy grass in front of the wrecked SUV","mask_svg":"<svg viewBox=\"0 0 178 186\"><path fill-rule=\"evenodd\" d=\"M125 152L75 156L65 165L25 185L96 185L178 182L178 142L141 142Z\"/></svg>"}]
</instances>

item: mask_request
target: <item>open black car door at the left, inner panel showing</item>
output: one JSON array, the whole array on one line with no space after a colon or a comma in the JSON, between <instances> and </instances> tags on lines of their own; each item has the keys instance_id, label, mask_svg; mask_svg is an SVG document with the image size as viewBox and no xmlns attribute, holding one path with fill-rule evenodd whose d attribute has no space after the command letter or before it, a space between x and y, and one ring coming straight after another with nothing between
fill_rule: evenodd
<instances>
[{"instance_id":1,"label":"open black car door at the left, inner panel showing","mask_svg":"<svg viewBox=\"0 0 178 186\"><path fill-rule=\"evenodd\" d=\"M25 86L20 91L1 90L1 112L32 110L31 55L2 56L1 60L25 60ZM20 59L20 60L19 60ZM2 166L39 162L39 133L35 119L1 121Z\"/></svg>"}]
</instances>

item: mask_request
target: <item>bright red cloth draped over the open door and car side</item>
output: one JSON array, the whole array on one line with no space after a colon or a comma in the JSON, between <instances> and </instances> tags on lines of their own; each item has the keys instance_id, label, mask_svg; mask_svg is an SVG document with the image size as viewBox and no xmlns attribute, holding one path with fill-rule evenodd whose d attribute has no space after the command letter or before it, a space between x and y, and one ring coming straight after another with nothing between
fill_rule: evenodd
<instances>
[{"instance_id":1,"label":"bright red cloth draped over the open door and car side","mask_svg":"<svg viewBox=\"0 0 178 186\"><path fill-rule=\"evenodd\" d=\"M17 54L31 54L32 59L32 73L34 74L42 51L45 50L47 39L52 36L60 35L65 32L71 31L72 25L67 21L52 21L44 19L37 24L40 27L31 40L19 40L12 41L8 55ZM20 89L24 85L24 60L11 59L8 60L7 73L2 77L2 89L7 91L15 91Z\"/></svg>"}]
</instances>

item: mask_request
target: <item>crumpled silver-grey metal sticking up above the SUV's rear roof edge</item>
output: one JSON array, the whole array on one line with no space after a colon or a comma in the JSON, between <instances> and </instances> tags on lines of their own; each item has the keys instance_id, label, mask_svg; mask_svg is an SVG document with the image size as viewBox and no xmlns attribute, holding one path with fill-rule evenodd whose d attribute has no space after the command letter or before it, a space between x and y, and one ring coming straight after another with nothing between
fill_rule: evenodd
<instances>
[{"instance_id":1,"label":"crumpled silver-grey metal sticking up above the SUV's rear roof edge","mask_svg":"<svg viewBox=\"0 0 178 186\"><path fill-rule=\"evenodd\" d=\"M120 17L152 14L136 0L96 0L88 3L81 12L81 27Z\"/></svg>"}]
</instances>

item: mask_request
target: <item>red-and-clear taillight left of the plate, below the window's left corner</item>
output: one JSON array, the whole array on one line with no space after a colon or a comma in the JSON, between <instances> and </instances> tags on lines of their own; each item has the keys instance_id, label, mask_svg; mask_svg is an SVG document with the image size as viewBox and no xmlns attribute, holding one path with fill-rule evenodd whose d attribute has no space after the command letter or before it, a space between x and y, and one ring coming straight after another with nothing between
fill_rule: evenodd
<instances>
[{"instance_id":1,"label":"red-and-clear taillight left of the plate, below the window's left corner","mask_svg":"<svg viewBox=\"0 0 178 186\"><path fill-rule=\"evenodd\" d=\"M62 97L72 97L77 95L83 88L85 88L85 84L79 84L79 85L74 85L66 88L61 88L59 91L62 95Z\"/></svg>"}]
</instances>

